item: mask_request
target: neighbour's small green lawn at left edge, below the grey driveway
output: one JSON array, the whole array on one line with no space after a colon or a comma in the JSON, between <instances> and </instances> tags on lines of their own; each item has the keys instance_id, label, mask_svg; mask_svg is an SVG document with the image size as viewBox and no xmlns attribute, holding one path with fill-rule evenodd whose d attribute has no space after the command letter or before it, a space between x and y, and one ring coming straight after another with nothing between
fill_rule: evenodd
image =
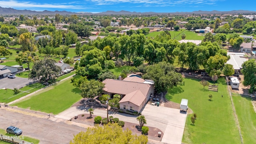
<instances>
[{"instance_id":1,"label":"neighbour's small green lawn at left edge, below the grey driveway","mask_svg":"<svg viewBox=\"0 0 256 144\"><path fill-rule=\"evenodd\" d=\"M1 94L0 102L4 102L4 103L12 102L18 98L21 98L22 96L26 96L27 94L30 94L31 92L34 92L41 88L44 88L44 85L41 85L39 83L31 84L29 86L25 86L19 89L21 91L27 91L27 92L20 92L18 94L14 94L13 90L10 90L10 89L7 89L7 90L0 89L0 94Z\"/></svg>"}]
</instances>

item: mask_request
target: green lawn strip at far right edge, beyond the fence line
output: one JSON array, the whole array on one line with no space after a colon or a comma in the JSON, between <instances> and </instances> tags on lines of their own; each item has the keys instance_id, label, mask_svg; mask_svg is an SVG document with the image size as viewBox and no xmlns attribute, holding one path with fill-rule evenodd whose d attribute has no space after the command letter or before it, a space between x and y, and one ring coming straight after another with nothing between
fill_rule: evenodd
<instances>
[{"instance_id":1,"label":"green lawn strip at far right edge, beyond the fence line","mask_svg":"<svg viewBox=\"0 0 256 144\"><path fill-rule=\"evenodd\" d=\"M256 114L251 103L251 98L243 98L239 94L232 94L232 98L244 144L256 144Z\"/></svg>"}]
</instances>

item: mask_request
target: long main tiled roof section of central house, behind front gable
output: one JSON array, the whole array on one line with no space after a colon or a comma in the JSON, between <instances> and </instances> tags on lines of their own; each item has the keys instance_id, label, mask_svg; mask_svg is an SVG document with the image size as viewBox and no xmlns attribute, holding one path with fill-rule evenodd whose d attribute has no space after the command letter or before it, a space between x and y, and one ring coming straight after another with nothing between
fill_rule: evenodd
<instances>
[{"instance_id":1,"label":"long main tiled roof section of central house, behind front gable","mask_svg":"<svg viewBox=\"0 0 256 144\"><path fill-rule=\"evenodd\" d=\"M104 91L124 95L140 90L142 94L146 96L151 86L150 84L114 79L106 79L103 83L105 83L105 88L103 88Z\"/></svg>"}]
</instances>

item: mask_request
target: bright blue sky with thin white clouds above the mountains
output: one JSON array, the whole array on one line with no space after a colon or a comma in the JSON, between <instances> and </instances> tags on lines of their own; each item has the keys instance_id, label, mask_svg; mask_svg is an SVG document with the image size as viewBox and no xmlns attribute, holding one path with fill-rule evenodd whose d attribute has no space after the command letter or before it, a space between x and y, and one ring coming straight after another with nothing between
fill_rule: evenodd
<instances>
[{"instance_id":1,"label":"bright blue sky with thin white clouds above the mountains","mask_svg":"<svg viewBox=\"0 0 256 144\"><path fill-rule=\"evenodd\" d=\"M193 12L197 10L256 11L256 0L0 0L3 8L69 12Z\"/></svg>"}]
</instances>

